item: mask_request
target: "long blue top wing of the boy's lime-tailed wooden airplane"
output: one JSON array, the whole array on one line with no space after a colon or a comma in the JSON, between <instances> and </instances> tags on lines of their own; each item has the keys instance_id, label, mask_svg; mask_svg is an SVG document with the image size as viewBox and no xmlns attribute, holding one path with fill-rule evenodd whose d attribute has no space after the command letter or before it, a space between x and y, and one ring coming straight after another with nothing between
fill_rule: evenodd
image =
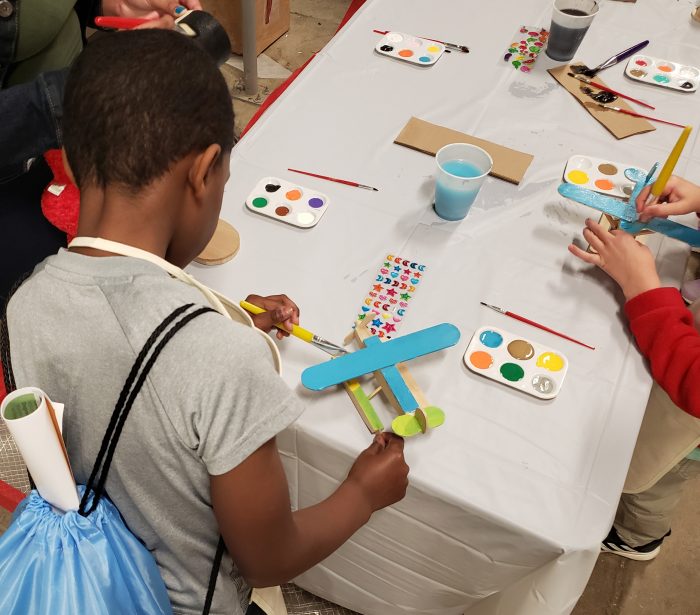
<instances>
[{"instance_id":1,"label":"long blue top wing of the boy's lime-tailed wooden airplane","mask_svg":"<svg viewBox=\"0 0 700 615\"><path fill-rule=\"evenodd\" d=\"M372 346L370 343L367 348L308 367L301 374L301 383L307 389L320 391L334 384L454 346L458 341L459 329L449 323L442 323L391 339L378 346Z\"/></svg>"}]
</instances>

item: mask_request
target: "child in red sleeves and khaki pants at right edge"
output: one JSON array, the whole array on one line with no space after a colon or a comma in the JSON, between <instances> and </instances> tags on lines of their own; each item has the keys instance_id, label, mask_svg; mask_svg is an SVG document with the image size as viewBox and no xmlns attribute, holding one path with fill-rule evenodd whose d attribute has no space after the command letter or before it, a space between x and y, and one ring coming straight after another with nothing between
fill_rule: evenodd
<instances>
[{"instance_id":1,"label":"child in red sleeves and khaki pants at right edge","mask_svg":"<svg viewBox=\"0 0 700 615\"><path fill-rule=\"evenodd\" d=\"M700 213L700 186L692 182L671 177L659 199L647 203L649 191L637 199L642 221ZM597 254L573 244L569 251L620 286L630 330L655 381L615 523L601 549L650 560L671 533L683 485L700 476L700 301L686 307L678 289L663 287L651 251L632 235L586 220L583 236Z\"/></svg>"}]
</instances>

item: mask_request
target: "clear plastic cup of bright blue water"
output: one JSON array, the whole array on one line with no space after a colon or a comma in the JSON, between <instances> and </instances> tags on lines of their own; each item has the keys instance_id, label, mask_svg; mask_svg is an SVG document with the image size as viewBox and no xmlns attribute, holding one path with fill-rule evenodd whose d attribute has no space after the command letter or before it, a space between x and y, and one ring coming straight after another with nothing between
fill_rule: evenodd
<instances>
[{"instance_id":1,"label":"clear plastic cup of bright blue water","mask_svg":"<svg viewBox=\"0 0 700 615\"><path fill-rule=\"evenodd\" d=\"M435 154L435 213L443 220L461 220L491 172L493 160L480 147L451 143Z\"/></svg>"}]
</instances>

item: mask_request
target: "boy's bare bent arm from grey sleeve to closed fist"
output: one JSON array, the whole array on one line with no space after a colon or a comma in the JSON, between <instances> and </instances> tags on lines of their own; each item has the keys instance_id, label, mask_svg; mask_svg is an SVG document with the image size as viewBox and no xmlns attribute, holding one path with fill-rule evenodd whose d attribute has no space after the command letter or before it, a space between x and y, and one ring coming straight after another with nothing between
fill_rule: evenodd
<instances>
[{"instance_id":1,"label":"boy's bare bent arm from grey sleeve to closed fist","mask_svg":"<svg viewBox=\"0 0 700 615\"><path fill-rule=\"evenodd\" d=\"M325 559L374 511L402 499L407 485L403 440L388 433L375 436L328 498L297 512L274 439L229 472L211 476L219 529L253 587L287 582Z\"/></svg>"}]
</instances>

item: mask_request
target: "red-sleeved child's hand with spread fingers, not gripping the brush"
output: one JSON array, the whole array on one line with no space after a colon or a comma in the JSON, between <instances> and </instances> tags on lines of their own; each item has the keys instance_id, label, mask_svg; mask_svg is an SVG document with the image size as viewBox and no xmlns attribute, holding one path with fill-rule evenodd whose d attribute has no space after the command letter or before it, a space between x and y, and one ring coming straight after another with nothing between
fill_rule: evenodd
<instances>
[{"instance_id":1,"label":"red-sleeved child's hand with spread fingers, not gripping the brush","mask_svg":"<svg viewBox=\"0 0 700 615\"><path fill-rule=\"evenodd\" d=\"M587 263L598 265L620 285L627 300L661 286L649 248L629 233L608 232L589 218L583 236L598 254L584 252L573 244L569 246L569 252Z\"/></svg>"}]
</instances>

